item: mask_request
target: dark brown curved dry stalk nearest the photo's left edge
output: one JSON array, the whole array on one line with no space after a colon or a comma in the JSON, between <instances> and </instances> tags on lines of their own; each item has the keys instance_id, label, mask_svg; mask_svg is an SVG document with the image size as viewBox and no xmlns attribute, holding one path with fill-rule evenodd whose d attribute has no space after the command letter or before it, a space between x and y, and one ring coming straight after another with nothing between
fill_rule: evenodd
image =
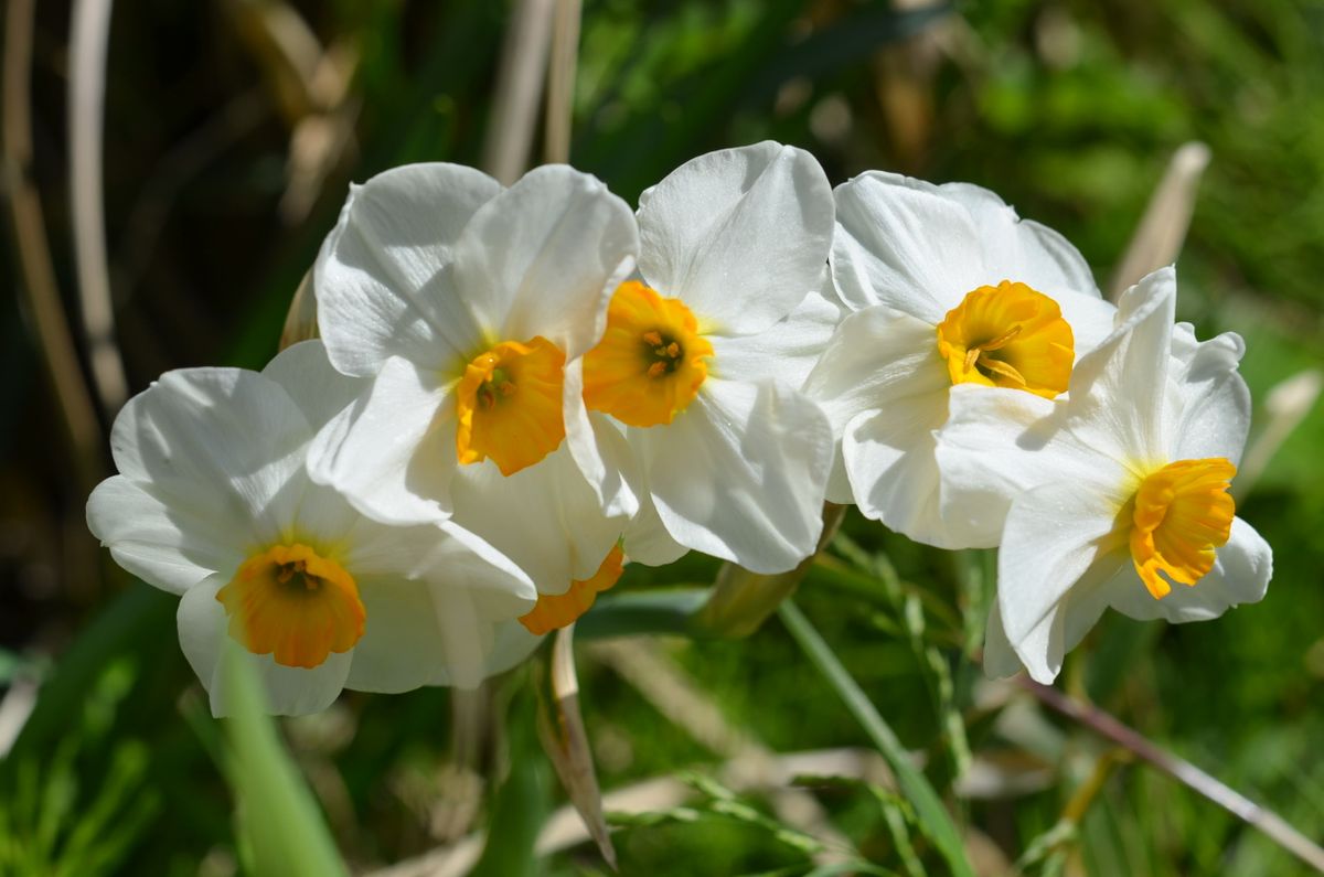
<instances>
[{"instance_id":1,"label":"dark brown curved dry stalk nearest the photo's left edge","mask_svg":"<svg viewBox=\"0 0 1324 877\"><path fill-rule=\"evenodd\" d=\"M102 474L102 431L74 352L60 302L41 197L32 183L32 33L34 0L9 0L4 45L4 181L19 250L20 284L69 438L79 486L90 490Z\"/></svg>"}]
</instances>

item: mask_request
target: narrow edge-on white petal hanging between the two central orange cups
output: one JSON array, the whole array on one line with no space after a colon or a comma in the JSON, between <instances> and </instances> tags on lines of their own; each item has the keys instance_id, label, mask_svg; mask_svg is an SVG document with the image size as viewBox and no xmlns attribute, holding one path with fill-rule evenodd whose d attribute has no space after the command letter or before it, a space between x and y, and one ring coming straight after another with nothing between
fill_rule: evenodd
<instances>
[{"instance_id":1,"label":"narrow edge-on white petal hanging between the two central orange cups","mask_svg":"<svg viewBox=\"0 0 1324 877\"><path fill-rule=\"evenodd\" d=\"M565 368L565 445L597 494L602 514L629 517L639 507L639 494L625 477L636 468L633 452L616 421L584 407L584 360Z\"/></svg>"}]
</instances>

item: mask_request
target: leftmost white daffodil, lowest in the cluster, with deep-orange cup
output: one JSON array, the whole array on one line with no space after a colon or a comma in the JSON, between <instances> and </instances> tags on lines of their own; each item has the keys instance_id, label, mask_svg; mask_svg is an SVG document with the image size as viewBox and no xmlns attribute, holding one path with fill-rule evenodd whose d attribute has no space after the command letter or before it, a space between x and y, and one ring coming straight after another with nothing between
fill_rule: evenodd
<instances>
[{"instance_id":1,"label":"leftmost white daffodil, lowest in the cluster, with deep-orange cup","mask_svg":"<svg viewBox=\"0 0 1324 877\"><path fill-rule=\"evenodd\" d=\"M181 596L180 644L218 715L226 636L282 714L342 688L471 688L527 654L498 629L538 596L515 563L450 522L376 523L308 480L310 441L364 383L305 342L262 372L167 372L115 419L120 474L93 491L87 525L122 567Z\"/></svg>"}]
</instances>

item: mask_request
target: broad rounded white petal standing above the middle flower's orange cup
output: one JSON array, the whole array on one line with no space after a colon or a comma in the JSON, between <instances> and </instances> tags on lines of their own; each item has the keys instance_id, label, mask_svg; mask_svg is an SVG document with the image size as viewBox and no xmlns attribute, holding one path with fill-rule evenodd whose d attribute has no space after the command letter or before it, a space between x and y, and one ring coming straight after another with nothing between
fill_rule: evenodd
<instances>
[{"instance_id":1,"label":"broad rounded white petal standing above the middle flower's orange cup","mask_svg":"<svg viewBox=\"0 0 1324 877\"><path fill-rule=\"evenodd\" d=\"M831 187L804 150L763 142L708 152L639 197L639 272L700 323L752 334L821 286Z\"/></svg>"}]
</instances>

